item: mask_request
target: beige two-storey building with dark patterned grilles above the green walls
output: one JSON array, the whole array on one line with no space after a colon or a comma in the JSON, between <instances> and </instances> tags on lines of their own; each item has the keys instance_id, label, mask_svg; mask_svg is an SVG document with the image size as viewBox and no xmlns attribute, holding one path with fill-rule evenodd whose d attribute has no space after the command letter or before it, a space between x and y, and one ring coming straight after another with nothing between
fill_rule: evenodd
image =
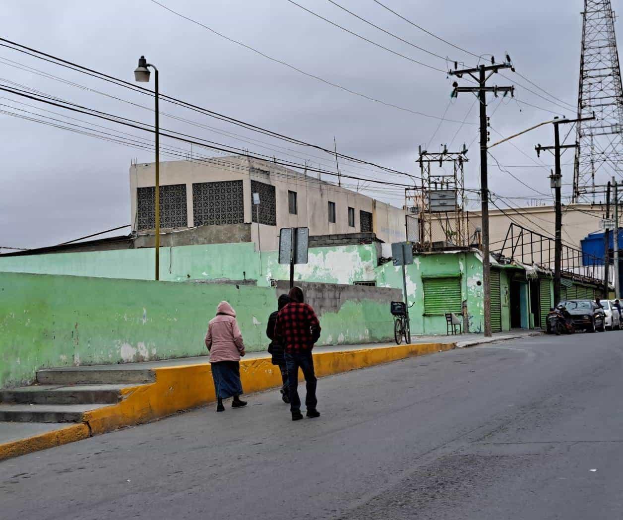
<instances>
[{"instance_id":1,"label":"beige two-storey building with dark patterned grilles above the green walls","mask_svg":"<svg viewBox=\"0 0 623 520\"><path fill-rule=\"evenodd\" d=\"M221 241L246 241L250 233L265 251L277 249L280 228L308 227L310 235L372 232L386 243L406 235L401 208L247 156L161 162L160 185L163 233L214 226ZM139 235L155 228L154 186L154 163L130 167L131 221Z\"/></svg>"}]
</instances>

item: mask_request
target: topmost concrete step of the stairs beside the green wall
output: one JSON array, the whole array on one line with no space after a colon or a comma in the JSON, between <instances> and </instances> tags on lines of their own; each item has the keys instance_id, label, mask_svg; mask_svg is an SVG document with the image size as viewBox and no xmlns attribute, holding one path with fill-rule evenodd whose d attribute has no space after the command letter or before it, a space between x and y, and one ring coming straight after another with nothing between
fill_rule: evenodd
<instances>
[{"instance_id":1,"label":"topmost concrete step of the stairs beside the green wall","mask_svg":"<svg viewBox=\"0 0 623 520\"><path fill-rule=\"evenodd\" d=\"M106 367L60 367L37 370L40 385L115 385L118 383L151 383L156 380L148 368L122 368L123 365Z\"/></svg>"}]
</instances>

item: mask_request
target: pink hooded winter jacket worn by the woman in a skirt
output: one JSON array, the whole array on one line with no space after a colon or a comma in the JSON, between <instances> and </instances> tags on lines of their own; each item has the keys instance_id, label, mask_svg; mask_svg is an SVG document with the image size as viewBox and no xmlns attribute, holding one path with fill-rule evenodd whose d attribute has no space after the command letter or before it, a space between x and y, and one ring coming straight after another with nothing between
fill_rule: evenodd
<instances>
[{"instance_id":1,"label":"pink hooded winter jacket worn by the woman in a skirt","mask_svg":"<svg viewBox=\"0 0 623 520\"><path fill-rule=\"evenodd\" d=\"M244 355L242 334L235 320L235 311L227 302L219 303L216 317L207 325L206 347L210 351L210 362L240 361Z\"/></svg>"}]
</instances>

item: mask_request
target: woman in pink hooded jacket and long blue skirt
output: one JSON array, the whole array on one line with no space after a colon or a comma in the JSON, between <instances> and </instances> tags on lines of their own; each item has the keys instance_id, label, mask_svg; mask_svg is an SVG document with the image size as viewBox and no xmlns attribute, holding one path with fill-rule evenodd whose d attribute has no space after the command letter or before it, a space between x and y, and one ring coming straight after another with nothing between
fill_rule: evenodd
<instances>
[{"instance_id":1,"label":"woman in pink hooded jacket and long blue skirt","mask_svg":"<svg viewBox=\"0 0 623 520\"><path fill-rule=\"evenodd\" d=\"M207 325L206 347L210 351L210 367L217 398L217 412L224 412L223 399L233 397L232 408L242 408L240 400L240 356L244 356L242 333L235 319L235 311L227 302L219 303L216 317Z\"/></svg>"}]
</instances>

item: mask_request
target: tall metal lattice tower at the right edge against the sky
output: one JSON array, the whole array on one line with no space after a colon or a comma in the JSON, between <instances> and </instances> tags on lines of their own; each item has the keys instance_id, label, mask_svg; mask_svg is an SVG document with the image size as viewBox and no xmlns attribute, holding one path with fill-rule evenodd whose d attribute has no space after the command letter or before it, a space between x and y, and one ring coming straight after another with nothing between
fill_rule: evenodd
<instances>
[{"instance_id":1,"label":"tall metal lattice tower at the right edge against the sky","mask_svg":"<svg viewBox=\"0 0 623 520\"><path fill-rule=\"evenodd\" d=\"M621 176L623 89L610 0L584 0L573 201L595 201L599 182ZM596 184L597 183L597 184Z\"/></svg>"}]
</instances>

